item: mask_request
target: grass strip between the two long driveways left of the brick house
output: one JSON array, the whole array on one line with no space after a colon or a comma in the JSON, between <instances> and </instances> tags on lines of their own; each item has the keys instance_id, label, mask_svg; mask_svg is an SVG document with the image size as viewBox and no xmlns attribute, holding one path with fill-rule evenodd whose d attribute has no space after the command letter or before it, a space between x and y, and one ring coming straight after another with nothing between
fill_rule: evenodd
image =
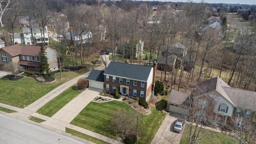
<instances>
[{"instance_id":1,"label":"grass strip between the two long driveways left of the brick house","mask_svg":"<svg viewBox=\"0 0 256 144\"><path fill-rule=\"evenodd\" d=\"M62 92L60 95L56 96L54 99L50 100L47 104L42 106L37 113L44 116L52 117L56 112L63 108L68 102L80 94L80 91L76 90L76 86L72 86Z\"/></svg>"}]
</instances>

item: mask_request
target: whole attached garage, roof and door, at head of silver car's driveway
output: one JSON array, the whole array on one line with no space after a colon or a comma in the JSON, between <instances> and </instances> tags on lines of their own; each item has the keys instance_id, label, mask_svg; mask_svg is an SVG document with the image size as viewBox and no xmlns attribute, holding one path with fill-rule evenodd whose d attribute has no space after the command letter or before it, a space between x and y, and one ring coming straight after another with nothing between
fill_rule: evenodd
<instances>
[{"instance_id":1,"label":"whole attached garage, roof and door, at head of silver car's driveway","mask_svg":"<svg viewBox=\"0 0 256 144\"><path fill-rule=\"evenodd\" d=\"M172 90L167 101L166 110L186 114L188 112L188 109L186 109L186 103L188 102L189 97L189 93Z\"/></svg>"}]
</instances>

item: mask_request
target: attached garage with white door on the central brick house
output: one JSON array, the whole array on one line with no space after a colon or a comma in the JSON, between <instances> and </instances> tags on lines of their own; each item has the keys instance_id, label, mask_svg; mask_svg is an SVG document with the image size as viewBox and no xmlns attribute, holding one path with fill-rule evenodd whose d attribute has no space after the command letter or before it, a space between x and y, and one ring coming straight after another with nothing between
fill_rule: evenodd
<instances>
[{"instance_id":1,"label":"attached garage with white door on the central brick house","mask_svg":"<svg viewBox=\"0 0 256 144\"><path fill-rule=\"evenodd\" d=\"M88 77L86 78L88 80L89 87L103 90L103 86L104 86L103 73L104 71L92 70L88 75Z\"/></svg>"}]
</instances>

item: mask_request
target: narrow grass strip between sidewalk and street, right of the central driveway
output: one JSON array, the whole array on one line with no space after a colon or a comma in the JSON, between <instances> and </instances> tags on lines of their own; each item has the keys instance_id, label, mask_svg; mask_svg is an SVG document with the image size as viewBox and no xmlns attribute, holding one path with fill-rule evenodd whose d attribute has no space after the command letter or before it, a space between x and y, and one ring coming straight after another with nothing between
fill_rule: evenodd
<instances>
[{"instance_id":1,"label":"narrow grass strip between sidewalk and street, right of the central driveway","mask_svg":"<svg viewBox=\"0 0 256 144\"><path fill-rule=\"evenodd\" d=\"M94 137L92 137L92 136L88 136L87 134L83 134L83 133L81 133L81 132L78 132L78 131L76 131L76 130L72 130L72 129L70 129L70 128L66 128L66 132L69 133L69 134L78 136L78 137L80 137L80 138L84 138L84 139L89 140L89 141L91 141L91 142L94 142L94 143L96 143L96 144L110 144L110 143L108 143L108 142L105 142L105 141L100 140L100 139L98 139L98 138L94 138Z\"/></svg>"}]
</instances>

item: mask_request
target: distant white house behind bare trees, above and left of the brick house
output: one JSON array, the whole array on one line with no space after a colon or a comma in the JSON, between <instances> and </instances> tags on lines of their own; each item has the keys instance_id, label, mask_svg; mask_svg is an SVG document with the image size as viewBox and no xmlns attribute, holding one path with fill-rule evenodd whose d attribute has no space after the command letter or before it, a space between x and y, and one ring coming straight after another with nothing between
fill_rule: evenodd
<instances>
[{"instance_id":1,"label":"distant white house behind bare trees, above and left of the brick house","mask_svg":"<svg viewBox=\"0 0 256 144\"><path fill-rule=\"evenodd\" d=\"M80 45L80 38L79 38L80 32L74 31L74 32L68 32L65 34L65 38L70 41L70 44L76 46ZM89 38L92 38L92 32L90 31L84 31L82 32L82 43L88 43Z\"/></svg>"}]
</instances>

